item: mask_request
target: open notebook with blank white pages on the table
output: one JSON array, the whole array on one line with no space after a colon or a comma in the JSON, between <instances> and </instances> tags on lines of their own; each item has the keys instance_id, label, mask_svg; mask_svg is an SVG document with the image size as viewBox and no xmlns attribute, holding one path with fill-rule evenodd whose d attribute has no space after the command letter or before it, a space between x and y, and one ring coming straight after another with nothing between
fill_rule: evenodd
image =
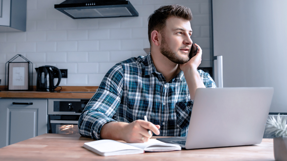
<instances>
[{"instance_id":1,"label":"open notebook with blank white pages on the table","mask_svg":"<svg viewBox=\"0 0 287 161\"><path fill-rule=\"evenodd\" d=\"M84 143L84 148L101 156L140 154L146 152L165 152L181 150L177 144L164 143L156 139L150 139L145 143L122 143L115 140L97 140Z\"/></svg>"}]
</instances>

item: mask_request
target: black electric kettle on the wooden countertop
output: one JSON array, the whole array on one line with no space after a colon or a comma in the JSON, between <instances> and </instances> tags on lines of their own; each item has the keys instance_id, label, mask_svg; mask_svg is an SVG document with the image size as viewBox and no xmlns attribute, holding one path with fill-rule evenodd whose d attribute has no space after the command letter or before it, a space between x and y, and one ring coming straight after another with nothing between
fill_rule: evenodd
<instances>
[{"instance_id":1,"label":"black electric kettle on the wooden countertop","mask_svg":"<svg viewBox=\"0 0 287 161\"><path fill-rule=\"evenodd\" d=\"M62 78L61 71L58 68L49 65L35 69L37 71L36 91L55 91L55 88L59 86ZM54 86L54 78L58 78L56 86Z\"/></svg>"}]
</instances>

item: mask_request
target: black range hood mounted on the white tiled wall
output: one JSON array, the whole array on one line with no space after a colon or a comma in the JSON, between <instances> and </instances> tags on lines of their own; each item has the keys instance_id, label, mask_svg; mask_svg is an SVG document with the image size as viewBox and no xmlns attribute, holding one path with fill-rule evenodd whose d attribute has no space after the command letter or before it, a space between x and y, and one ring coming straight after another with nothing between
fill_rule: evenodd
<instances>
[{"instance_id":1,"label":"black range hood mounted on the white tiled wall","mask_svg":"<svg viewBox=\"0 0 287 161\"><path fill-rule=\"evenodd\" d=\"M126 0L66 0L55 9L73 19L139 16Z\"/></svg>"}]
</instances>

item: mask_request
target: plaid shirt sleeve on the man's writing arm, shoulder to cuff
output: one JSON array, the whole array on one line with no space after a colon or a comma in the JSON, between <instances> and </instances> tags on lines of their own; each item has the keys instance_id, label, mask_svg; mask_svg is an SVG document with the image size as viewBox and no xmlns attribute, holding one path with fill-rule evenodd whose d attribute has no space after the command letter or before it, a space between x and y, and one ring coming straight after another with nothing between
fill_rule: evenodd
<instances>
[{"instance_id":1,"label":"plaid shirt sleeve on the man's writing arm, shoulder to cuff","mask_svg":"<svg viewBox=\"0 0 287 161\"><path fill-rule=\"evenodd\" d=\"M120 64L116 64L106 73L97 92L80 115L78 128L82 136L99 140L102 126L116 121L112 117L121 102L122 89L123 70Z\"/></svg>"}]
</instances>

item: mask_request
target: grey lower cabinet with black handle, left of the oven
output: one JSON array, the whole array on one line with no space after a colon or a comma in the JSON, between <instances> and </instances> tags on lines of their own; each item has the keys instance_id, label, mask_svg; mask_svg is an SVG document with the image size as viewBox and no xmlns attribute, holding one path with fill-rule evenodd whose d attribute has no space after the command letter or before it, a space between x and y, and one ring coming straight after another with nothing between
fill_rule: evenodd
<instances>
[{"instance_id":1,"label":"grey lower cabinet with black handle, left of the oven","mask_svg":"<svg viewBox=\"0 0 287 161\"><path fill-rule=\"evenodd\" d=\"M47 133L47 99L0 99L0 148Z\"/></svg>"}]
</instances>

